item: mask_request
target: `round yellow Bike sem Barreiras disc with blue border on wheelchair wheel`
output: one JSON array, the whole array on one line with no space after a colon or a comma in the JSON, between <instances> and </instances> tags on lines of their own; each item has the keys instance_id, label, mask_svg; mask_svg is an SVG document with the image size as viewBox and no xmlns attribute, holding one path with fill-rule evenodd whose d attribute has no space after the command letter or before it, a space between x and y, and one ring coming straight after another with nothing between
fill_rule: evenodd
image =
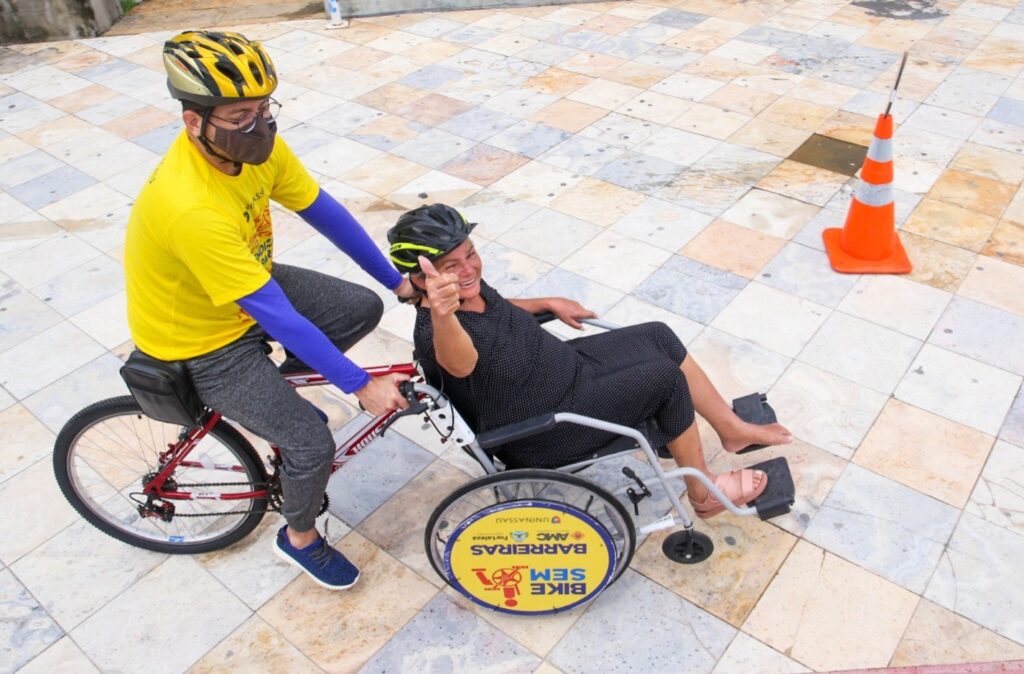
<instances>
[{"instance_id":1,"label":"round yellow Bike sem Barreiras disc with blue border on wheelchair wheel","mask_svg":"<svg viewBox=\"0 0 1024 674\"><path fill-rule=\"evenodd\" d=\"M603 590L614 568L605 529L582 510L550 501L484 508L459 524L444 550L455 589L510 614L574 608Z\"/></svg>"}]
</instances>

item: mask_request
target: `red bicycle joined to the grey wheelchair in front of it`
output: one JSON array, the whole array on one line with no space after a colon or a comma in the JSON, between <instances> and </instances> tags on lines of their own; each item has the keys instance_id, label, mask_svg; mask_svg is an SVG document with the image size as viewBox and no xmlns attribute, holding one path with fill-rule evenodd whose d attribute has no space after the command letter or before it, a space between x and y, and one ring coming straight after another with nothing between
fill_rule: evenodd
<instances>
[{"instance_id":1,"label":"red bicycle joined to the grey wheelchair in front of it","mask_svg":"<svg viewBox=\"0 0 1024 674\"><path fill-rule=\"evenodd\" d=\"M133 360L143 370L157 370L156 384L142 385L126 374ZM787 512L794 501L792 477L782 458L758 464L769 473L769 489L754 505L737 506L695 469L666 471L641 430L551 413L477 434L444 394L424 380L417 364L380 366L367 372L374 377L409 375L411 380L400 384L409 408L376 416L358 427L336 449L332 472L401 417L421 414L442 441L452 441L472 456L486 474L471 479L437 505L426 522L424 546L438 576L488 608L545 614L590 601L629 566L638 536L660 529L684 528L665 541L663 550L671 559L682 563L706 559L713 551L712 541L693 531L671 478L692 475L700 479L737 515L757 514L766 519ZM199 401L181 364L155 361L136 351L122 374L132 395L85 408L68 421L54 445L57 482L86 520L139 548L193 554L224 548L250 534L267 512L280 511L279 448L270 446L264 461L220 413ZM329 384L310 371L283 376L297 389ZM758 394L748 396L754 397ZM759 410L770 412L763 396L755 403ZM591 458L558 469L506 470L495 457L502 445L545 432L558 423L598 428L618 437L596 449ZM652 473L641 477L622 468L628 487L614 494L575 474L634 452L643 453ZM637 530L616 497L623 496L638 515L639 504L651 496L644 477L660 483L675 514L670 512ZM321 512L327 507L325 495ZM525 593L520 586L526 588Z\"/></svg>"}]
</instances>

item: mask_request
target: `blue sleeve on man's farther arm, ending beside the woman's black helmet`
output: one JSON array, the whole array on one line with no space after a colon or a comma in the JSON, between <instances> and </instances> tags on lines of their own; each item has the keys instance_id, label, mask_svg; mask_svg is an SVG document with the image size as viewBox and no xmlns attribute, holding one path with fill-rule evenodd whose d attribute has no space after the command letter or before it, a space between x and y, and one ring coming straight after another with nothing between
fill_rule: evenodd
<instances>
[{"instance_id":1,"label":"blue sleeve on man's farther arm, ending beside the woman's black helmet","mask_svg":"<svg viewBox=\"0 0 1024 674\"><path fill-rule=\"evenodd\" d=\"M356 264L377 279L381 285L394 290L401 283L401 275L377 250L373 239L362 225L356 222L348 209L335 201L331 195L321 189L313 203L299 211L298 215L327 237L339 250L355 260Z\"/></svg>"}]
</instances>

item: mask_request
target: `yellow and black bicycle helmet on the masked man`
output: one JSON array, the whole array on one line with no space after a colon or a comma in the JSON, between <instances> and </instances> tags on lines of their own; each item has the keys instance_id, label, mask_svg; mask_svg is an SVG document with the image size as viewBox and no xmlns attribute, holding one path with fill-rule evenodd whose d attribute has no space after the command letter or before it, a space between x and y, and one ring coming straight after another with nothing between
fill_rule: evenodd
<instances>
[{"instance_id":1,"label":"yellow and black bicycle helmet on the masked man","mask_svg":"<svg viewBox=\"0 0 1024 674\"><path fill-rule=\"evenodd\" d=\"M266 50L238 33L175 35L164 43L164 69L171 95L201 106L265 98L278 88Z\"/></svg>"}]
</instances>

